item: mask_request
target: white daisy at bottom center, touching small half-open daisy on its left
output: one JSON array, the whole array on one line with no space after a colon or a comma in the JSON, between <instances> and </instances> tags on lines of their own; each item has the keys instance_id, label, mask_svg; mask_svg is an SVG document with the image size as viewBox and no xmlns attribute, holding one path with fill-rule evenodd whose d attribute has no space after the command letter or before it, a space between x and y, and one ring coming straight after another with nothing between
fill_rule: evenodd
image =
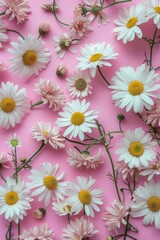
<instances>
[{"instance_id":1,"label":"white daisy at bottom center, touching small half-open daisy on its left","mask_svg":"<svg viewBox=\"0 0 160 240\"><path fill-rule=\"evenodd\" d=\"M85 211L87 216L94 217L94 211L99 212L98 205L102 205L102 189L93 189L95 179L91 176L89 178L76 178L76 183L68 183L66 194L68 196L68 203L72 206L72 211L75 214Z\"/></svg>"}]
</instances>

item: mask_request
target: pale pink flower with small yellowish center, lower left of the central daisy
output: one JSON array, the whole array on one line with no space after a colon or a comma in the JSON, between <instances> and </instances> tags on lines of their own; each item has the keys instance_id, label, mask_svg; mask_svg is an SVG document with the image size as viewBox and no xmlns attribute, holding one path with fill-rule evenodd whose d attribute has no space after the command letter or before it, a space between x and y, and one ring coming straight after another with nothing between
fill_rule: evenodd
<instances>
[{"instance_id":1,"label":"pale pink flower with small yellowish center, lower left of the central daisy","mask_svg":"<svg viewBox=\"0 0 160 240\"><path fill-rule=\"evenodd\" d=\"M44 141L45 144L51 145L54 149L65 147L64 137L58 127L52 127L51 123L38 122L32 127L32 136L37 141Z\"/></svg>"}]
</instances>

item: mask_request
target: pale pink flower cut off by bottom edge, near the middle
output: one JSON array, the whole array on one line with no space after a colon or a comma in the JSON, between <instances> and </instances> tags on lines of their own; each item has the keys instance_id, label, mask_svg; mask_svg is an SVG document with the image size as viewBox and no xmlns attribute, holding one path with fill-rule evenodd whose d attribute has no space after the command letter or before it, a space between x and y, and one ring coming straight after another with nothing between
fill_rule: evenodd
<instances>
[{"instance_id":1,"label":"pale pink flower cut off by bottom edge, near the middle","mask_svg":"<svg viewBox=\"0 0 160 240\"><path fill-rule=\"evenodd\" d=\"M70 221L67 228L63 229L62 240L90 239L98 230L94 229L93 223L84 217Z\"/></svg>"}]
</instances>

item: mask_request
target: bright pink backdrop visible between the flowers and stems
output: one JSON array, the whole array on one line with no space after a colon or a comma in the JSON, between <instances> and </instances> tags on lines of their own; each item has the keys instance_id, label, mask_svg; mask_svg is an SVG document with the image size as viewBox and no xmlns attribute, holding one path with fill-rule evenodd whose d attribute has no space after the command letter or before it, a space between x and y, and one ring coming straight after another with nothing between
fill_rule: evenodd
<instances>
[{"instance_id":1,"label":"bright pink backdrop visible between the flowers and stems","mask_svg":"<svg viewBox=\"0 0 160 240\"><path fill-rule=\"evenodd\" d=\"M117 41L114 33L112 32L115 27L113 21L118 18L119 11L124 6L131 6L139 2L138 0L133 0L131 3L119 4L113 6L109 9L106 9L105 12L108 14L110 22L106 25L101 25L99 28L97 27L96 21L93 23L93 31L89 33L88 38L82 39L82 42L78 44L75 48L77 49L77 54L72 54L67 52L65 57L60 60L55 53L53 37L60 36L64 32L69 32L68 28L60 25L56 22L54 16L47 12L44 12L41 8L42 3L49 3L45 0L28 0L32 13L29 15L29 20L22 25L16 25L16 22L10 21L7 22L6 18L4 18L5 22L7 22L7 28L15 29L22 33L23 36L27 36L28 33L38 36L38 27L41 22L49 22L51 24L51 32L45 36L44 42L45 46L49 48L52 54L52 60L49 63L46 70L41 72L38 77L32 77L28 80L24 80L19 78L17 75L13 75L8 71L2 73L0 76L0 80L3 82L11 81L15 84L19 85L19 88L25 87L29 96L29 100L36 102L39 100L39 95L34 92L35 83L39 81L40 78L51 79L57 85L61 87L63 92L67 97L67 101L71 101L71 97L69 96L67 84L65 79L59 79L56 76L56 68L60 63L64 63L69 70L68 76L72 74L75 70L75 66L77 64L76 57L80 55L80 48L84 46L85 43L96 43L103 42L111 43L115 50L119 53L117 60L113 61L113 67L111 68L103 68L102 72L106 76L106 78L110 81L110 79L114 76L115 71L122 66L133 66L137 67L142 64L144 61L144 51L148 52L148 45L141 39L135 39L135 41L131 43L127 43L124 45L121 41ZM78 4L82 3L81 0L61 0L58 2L60 7L60 11L58 13L58 17L69 23L73 18L73 9ZM106 1L108 3L108 1ZM142 26L144 35L151 37L153 36L153 23L152 21L143 24ZM0 50L0 60L4 61L6 67L9 67L9 58L10 54L7 52L7 49L10 47L10 41L17 41L17 35L14 33L9 33L9 41L7 44L4 44L4 48ZM159 62L157 62L158 57L158 47L154 49L154 66L156 67ZM157 63L157 64L156 64ZM113 104L110 90L107 88L107 85L100 77L99 73L97 73L96 77L92 80L93 93L89 97L87 97L87 101L91 102L91 107L93 109L99 110L99 121L105 127L106 131L118 130L118 121L117 114L123 113L125 115L125 121L123 123L123 129L134 129L136 127L142 127L143 129L147 129L146 126L142 123L142 121L132 112L127 113L116 108ZM10 152L11 148L8 148L6 140L9 135L13 135L14 133L20 138L22 147L18 149L18 157L26 157L29 158L40 146L40 143L36 142L31 134L30 129L34 123L37 121L51 122L53 125L58 117L56 112L52 112L48 109L47 105L42 105L31 110L23 119L21 124L16 126L15 128L10 128L9 130L0 128L0 146L1 151ZM116 135L112 141L112 156L114 161L116 161L117 156L115 155L115 150L117 149L117 144L120 142L122 136ZM66 148L73 148L73 144L66 142ZM49 161L53 164L58 163L60 165L59 173L65 171L66 172L66 181L72 181L76 178L76 176L92 176L96 179L95 188L103 188L104 189L104 205L101 207L101 212L95 214L95 218L91 219L94 222L95 228L99 230L99 233L93 237L93 240L104 240L110 233L107 231L104 226L104 221L102 220L104 216L104 209L106 206L110 206L110 203L117 198L115 193L115 188L113 182L108 179L106 176L107 172L111 170L108 156L103 150L103 156L105 163L100 168L96 170L84 170L84 169L76 169L69 167L66 162L67 154L66 148L61 151L53 150L50 146L46 146L42 152L36 156L36 158L32 162L33 168L39 169L40 163ZM95 150L98 148L94 148ZM3 175L8 176L13 172L13 168L10 170L3 169ZM28 179L29 170L22 171L23 179ZM45 207L43 202L38 202L37 198L32 202L32 210L28 212L27 217L21 223L21 229L26 229L29 227L33 227L34 225L40 225L41 223L47 222L49 226L55 232L55 239L60 240L62 229L65 228L68 224L67 217L59 217L52 210L51 204L47 207L47 213L43 220L36 220L33 217L34 211L38 207ZM131 219L131 223L136 226L139 230L139 233L135 236L137 239L145 239L145 240L158 240L159 239L159 231L155 229L154 226L143 226L142 219ZM4 235L6 233L6 224L7 222L4 219L4 216L0 216L0 240L4 239ZM17 228L14 229L15 235L17 237ZM132 233L131 233L132 235Z\"/></svg>"}]
</instances>

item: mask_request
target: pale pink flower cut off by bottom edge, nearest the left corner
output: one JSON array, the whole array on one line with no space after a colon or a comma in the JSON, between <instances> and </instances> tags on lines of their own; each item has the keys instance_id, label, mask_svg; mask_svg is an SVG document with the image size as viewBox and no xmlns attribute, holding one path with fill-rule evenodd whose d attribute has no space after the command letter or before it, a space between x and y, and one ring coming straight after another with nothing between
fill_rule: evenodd
<instances>
[{"instance_id":1,"label":"pale pink flower cut off by bottom edge, nearest the left corner","mask_svg":"<svg viewBox=\"0 0 160 240\"><path fill-rule=\"evenodd\" d=\"M20 236L21 240L53 240L54 233L52 229L49 228L47 223L43 223L40 226L34 226L25 230Z\"/></svg>"}]
</instances>

